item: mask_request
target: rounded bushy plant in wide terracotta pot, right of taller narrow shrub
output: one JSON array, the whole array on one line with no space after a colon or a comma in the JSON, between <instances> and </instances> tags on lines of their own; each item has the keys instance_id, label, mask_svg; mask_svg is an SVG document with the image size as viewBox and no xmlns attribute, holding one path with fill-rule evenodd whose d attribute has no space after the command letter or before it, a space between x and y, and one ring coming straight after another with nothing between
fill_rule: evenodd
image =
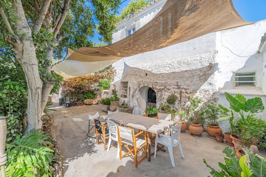
<instances>
[{"instance_id":1,"label":"rounded bushy plant in wide terracotta pot, right of taller narrow shrub","mask_svg":"<svg viewBox=\"0 0 266 177\"><path fill-rule=\"evenodd\" d=\"M215 134L222 134L217 119L218 119L218 112L219 108L214 104L207 104L204 106L200 113L198 114L201 119L204 119L208 122L206 132L208 133L208 136L212 139L215 139Z\"/></svg>"}]
</instances>

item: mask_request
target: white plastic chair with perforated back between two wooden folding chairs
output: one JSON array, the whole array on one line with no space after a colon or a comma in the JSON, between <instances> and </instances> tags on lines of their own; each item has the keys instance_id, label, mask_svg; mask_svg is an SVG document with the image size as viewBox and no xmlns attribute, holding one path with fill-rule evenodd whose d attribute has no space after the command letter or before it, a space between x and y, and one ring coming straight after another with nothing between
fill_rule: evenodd
<instances>
[{"instance_id":1,"label":"white plastic chair with perforated back between two wooden folding chairs","mask_svg":"<svg viewBox=\"0 0 266 177\"><path fill-rule=\"evenodd\" d=\"M113 140L115 141L115 143L117 142L117 158L119 158L119 141L118 141L118 135L117 135L117 124L110 119L107 119L106 122L107 122L108 129L109 129L109 141L108 141L107 152L109 151L110 145L112 144L112 140Z\"/></svg>"}]
</instances>

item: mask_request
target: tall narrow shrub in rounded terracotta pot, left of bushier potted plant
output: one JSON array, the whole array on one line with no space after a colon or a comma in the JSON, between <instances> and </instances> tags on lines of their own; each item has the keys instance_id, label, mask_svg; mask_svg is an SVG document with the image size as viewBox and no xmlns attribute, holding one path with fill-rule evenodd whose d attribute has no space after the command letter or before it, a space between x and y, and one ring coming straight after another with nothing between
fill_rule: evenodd
<instances>
[{"instance_id":1,"label":"tall narrow shrub in rounded terracotta pot, left of bushier potted plant","mask_svg":"<svg viewBox=\"0 0 266 177\"><path fill-rule=\"evenodd\" d=\"M187 106L186 111L188 113L188 117L190 117L192 121L189 125L189 131L193 136L202 136L202 123L204 122L204 120L202 119L203 117L197 116L197 109L202 103L202 99L198 97L189 96L188 100L189 105Z\"/></svg>"}]
</instances>

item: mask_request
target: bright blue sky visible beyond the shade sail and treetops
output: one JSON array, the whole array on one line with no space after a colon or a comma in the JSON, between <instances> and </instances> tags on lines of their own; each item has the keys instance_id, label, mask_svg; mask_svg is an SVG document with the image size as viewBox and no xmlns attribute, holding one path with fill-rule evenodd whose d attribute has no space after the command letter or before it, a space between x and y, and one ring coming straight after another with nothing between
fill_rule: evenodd
<instances>
[{"instance_id":1,"label":"bright blue sky visible beyond the shade sail and treetops","mask_svg":"<svg viewBox=\"0 0 266 177\"><path fill-rule=\"evenodd\" d=\"M119 14L130 1L131 0L126 0L120 5ZM123 0L121 0L121 2L123 2ZM266 0L233 0L233 4L237 12L247 21L255 22L266 19ZM97 23L97 21L95 22ZM91 40L93 42L100 42L98 38L99 34L95 33L95 36L91 38Z\"/></svg>"}]
</instances>

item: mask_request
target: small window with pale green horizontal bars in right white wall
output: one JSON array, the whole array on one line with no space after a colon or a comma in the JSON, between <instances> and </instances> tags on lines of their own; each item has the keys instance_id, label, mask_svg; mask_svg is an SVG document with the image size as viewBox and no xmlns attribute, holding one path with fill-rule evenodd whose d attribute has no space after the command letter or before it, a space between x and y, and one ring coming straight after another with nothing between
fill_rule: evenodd
<instances>
[{"instance_id":1,"label":"small window with pale green horizontal bars in right white wall","mask_svg":"<svg viewBox=\"0 0 266 177\"><path fill-rule=\"evenodd\" d=\"M235 86L255 86L255 83L256 83L255 72L235 74Z\"/></svg>"}]
</instances>

